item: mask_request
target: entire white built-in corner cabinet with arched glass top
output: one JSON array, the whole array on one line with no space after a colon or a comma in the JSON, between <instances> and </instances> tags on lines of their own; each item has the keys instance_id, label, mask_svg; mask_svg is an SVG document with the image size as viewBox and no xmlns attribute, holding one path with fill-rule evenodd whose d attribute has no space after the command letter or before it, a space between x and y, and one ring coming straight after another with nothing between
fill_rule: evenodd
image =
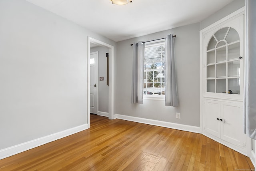
<instances>
[{"instance_id":1,"label":"entire white built-in corner cabinet with arched glass top","mask_svg":"<svg viewBox=\"0 0 256 171\"><path fill-rule=\"evenodd\" d=\"M200 112L204 135L247 154L243 84L244 11L240 9L200 31Z\"/></svg>"}]
</instances>

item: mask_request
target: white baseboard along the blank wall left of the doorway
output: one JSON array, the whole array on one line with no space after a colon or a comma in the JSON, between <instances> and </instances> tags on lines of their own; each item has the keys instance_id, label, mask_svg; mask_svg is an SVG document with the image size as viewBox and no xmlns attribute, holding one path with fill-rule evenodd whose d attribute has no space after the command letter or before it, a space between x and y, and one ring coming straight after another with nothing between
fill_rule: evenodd
<instances>
[{"instance_id":1,"label":"white baseboard along the blank wall left of the doorway","mask_svg":"<svg viewBox=\"0 0 256 171\"><path fill-rule=\"evenodd\" d=\"M38 147L40 145L50 143L50 142L55 141L57 139L61 139L63 137L72 135L74 133L78 133L80 131L84 131L85 129L88 129L88 124L87 123L84 124L84 125L80 125L80 126L77 126L77 127L66 129L64 131L53 133L53 134L47 135L45 137L41 137L41 138L34 139L34 140L31 140L31 141L28 141L28 142L25 142L25 143L14 145L12 147L8 147L8 148L5 148L5 149L0 149L0 159L4 159L6 157L10 157L12 155L21 153L23 151L27 151L29 149Z\"/></svg>"}]
</instances>

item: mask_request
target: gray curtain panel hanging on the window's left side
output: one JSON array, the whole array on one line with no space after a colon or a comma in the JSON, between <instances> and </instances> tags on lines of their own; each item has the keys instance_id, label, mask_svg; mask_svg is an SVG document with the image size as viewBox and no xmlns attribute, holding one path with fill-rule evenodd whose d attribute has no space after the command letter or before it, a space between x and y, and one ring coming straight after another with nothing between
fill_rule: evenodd
<instances>
[{"instance_id":1,"label":"gray curtain panel hanging on the window's left side","mask_svg":"<svg viewBox=\"0 0 256 171\"><path fill-rule=\"evenodd\" d=\"M132 103L143 103L144 49L142 42L133 44Z\"/></svg>"}]
</instances>

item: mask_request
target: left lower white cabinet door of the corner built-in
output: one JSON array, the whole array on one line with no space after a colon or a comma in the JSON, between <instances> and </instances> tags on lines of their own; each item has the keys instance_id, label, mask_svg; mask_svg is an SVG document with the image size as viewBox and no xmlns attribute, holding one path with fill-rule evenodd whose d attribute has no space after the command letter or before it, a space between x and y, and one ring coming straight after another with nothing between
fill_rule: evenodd
<instances>
[{"instance_id":1,"label":"left lower white cabinet door of the corner built-in","mask_svg":"<svg viewBox=\"0 0 256 171\"><path fill-rule=\"evenodd\" d=\"M220 101L204 101L204 131L220 138Z\"/></svg>"}]
</instances>

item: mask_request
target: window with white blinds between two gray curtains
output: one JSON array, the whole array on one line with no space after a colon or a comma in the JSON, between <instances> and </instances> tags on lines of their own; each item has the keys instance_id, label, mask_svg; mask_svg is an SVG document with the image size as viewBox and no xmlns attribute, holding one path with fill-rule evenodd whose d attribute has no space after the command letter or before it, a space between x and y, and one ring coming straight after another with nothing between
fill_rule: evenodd
<instances>
[{"instance_id":1,"label":"window with white blinds between two gray curtains","mask_svg":"<svg viewBox=\"0 0 256 171\"><path fill-rule=\"evenodd\" d=\"M164 97L165 42L145 44L144 96Z\"/></svg>"}]
</instances>

